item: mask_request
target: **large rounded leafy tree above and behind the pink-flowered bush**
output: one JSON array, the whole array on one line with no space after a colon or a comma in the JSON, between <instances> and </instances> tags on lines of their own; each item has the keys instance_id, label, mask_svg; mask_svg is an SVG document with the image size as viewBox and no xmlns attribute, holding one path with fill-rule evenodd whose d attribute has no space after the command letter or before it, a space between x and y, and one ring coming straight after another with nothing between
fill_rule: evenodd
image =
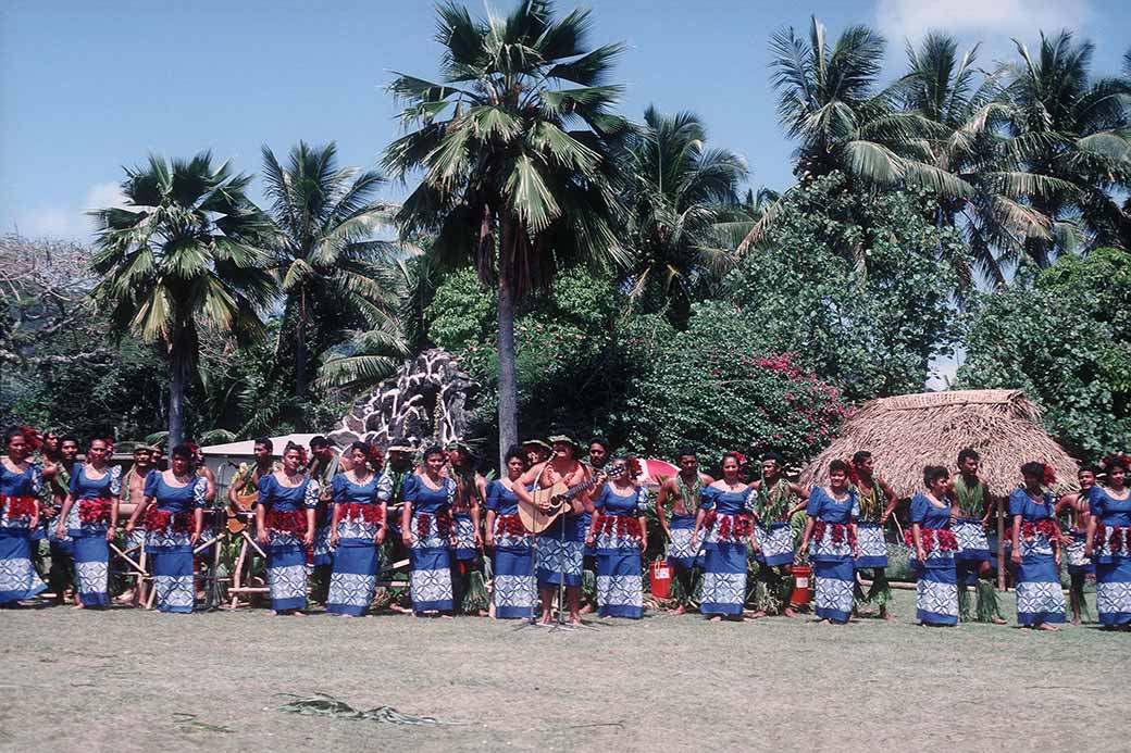
<instances>
[{"instance_id":1,"label":"large rounded leafy tree above and behind the pink-flowered bush","mask_svg":"<svg viewBox=\"0 0 1131 753\"><path fill-rule=\"evenodd\" d=\"M724 285L759 353L794 362L853 400L923 389L956 331L955 228L924 219L931 199L864 197L838 173L784 197L762 249Z\"/></svg>"}]
</instances>

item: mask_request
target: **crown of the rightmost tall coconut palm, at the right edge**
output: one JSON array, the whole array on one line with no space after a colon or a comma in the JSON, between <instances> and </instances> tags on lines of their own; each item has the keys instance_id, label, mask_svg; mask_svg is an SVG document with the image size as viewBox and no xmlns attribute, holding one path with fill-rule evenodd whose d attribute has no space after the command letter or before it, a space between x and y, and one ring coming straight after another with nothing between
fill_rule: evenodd
<instances>
[{"instance_id":1,"label":"crown of the rightmost tall coconut palm, at the right edge","mask_svg":"<svg viewBox=\"0 0 1131 753\"><path fill-rule=\"evenodd\" d=\"M1089 241L1119 242L1126 233L1129 218L1114 193L1131 183L1131 81L1093 79L1093 44L1076 43L1071 32L1042 34L1036 57L1013 42L1020 55L1009 84L1016 158L1027 172L1061 185L1031 199L1052 232L1051 237L1028 237L1025 251L1048 266L1061 252Z\"/></svg>"}]
</instances>

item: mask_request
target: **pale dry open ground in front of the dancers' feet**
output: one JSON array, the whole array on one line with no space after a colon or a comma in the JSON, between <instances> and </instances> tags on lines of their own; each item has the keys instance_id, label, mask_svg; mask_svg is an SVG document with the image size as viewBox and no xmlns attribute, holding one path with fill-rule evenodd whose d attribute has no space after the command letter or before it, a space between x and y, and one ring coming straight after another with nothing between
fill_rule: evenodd
<instances>
[{"instance_id":1,"label":"pale dry open ground in front of the dancers' feet","mask_svg":"<svg viewBox=\"0 0 1131 753\"><path fill-rule=\"evenodd\" d=\"M1126 750L1131 634L649 613L486 618L0 612L0 747ZM1004 596L1012 608L1012 595ZM284 713L293 695L444 725ZM292 695L288 695L292 694Z\"/></svg>"}]
</instances>

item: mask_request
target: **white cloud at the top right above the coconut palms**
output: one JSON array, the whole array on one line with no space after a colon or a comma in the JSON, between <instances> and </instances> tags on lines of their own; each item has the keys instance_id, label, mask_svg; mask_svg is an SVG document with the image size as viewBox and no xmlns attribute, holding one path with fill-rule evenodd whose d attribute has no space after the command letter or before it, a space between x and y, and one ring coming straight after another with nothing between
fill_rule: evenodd
<instances>
[{"instance_id":1,"label":"white cloud at the top right above the coconut palms","mask_svg":"<svg viewBox=\"0 0 1131 753\"><path fill-rule=\"evenodd\" d=\"M931 31L1028 38L1080 28L1090 15L1089 0L879 0L875 7L880 32L897 47Z\"/></svg>"}]
</instances>

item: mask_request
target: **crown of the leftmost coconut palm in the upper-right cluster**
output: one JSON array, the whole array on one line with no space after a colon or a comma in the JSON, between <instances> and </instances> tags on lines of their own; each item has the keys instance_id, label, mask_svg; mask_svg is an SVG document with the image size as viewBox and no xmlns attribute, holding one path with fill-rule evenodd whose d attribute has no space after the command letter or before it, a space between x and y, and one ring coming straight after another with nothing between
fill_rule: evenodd
<instances>
[{"instance_id":1,"label":"crown of the leftmost coconut palm in the upper-right cluster","mask_svg":"<svg viewBox=\"0 0 1131 753\"><path fill-rule=\"evenodd\" d=\"M913 185L946 196L970 187L931 164L926 139L940 132L929 118L892 106L878 87L886 42L866 26L845 29L830 46L824 25L810 19L808 38L793 27L770 37L770 81L778 94L778 120L791 138L796 188L839 171L849 190ZM739 246L744 252L775 222L782 204L763 213Z\"/></svg>"}]
</instances>

